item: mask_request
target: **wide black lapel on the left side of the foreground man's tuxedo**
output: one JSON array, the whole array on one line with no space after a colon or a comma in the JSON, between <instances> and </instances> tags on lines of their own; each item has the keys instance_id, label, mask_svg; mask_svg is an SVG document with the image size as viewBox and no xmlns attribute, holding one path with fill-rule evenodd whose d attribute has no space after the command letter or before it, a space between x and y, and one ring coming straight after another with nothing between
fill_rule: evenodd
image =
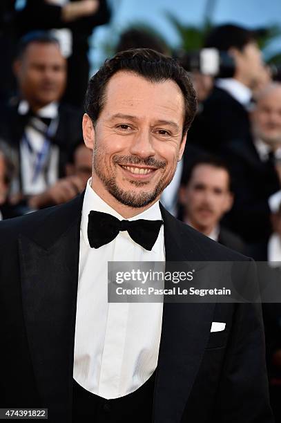
<instances>
[{"instance_id":1,"label":"wide black lapel on the left side of the foreground man's tuxedo","mask_svg":"<svg viewBox=\"0 0 281 423\"><path fill-rule=\"evenodd\" d=\"M35 379L42 404L52 404L49 417L54 412L61 422L71 417L82 199L43 220L36 241L19 238L23 314Z\"/></svg>"}]
</instances>

